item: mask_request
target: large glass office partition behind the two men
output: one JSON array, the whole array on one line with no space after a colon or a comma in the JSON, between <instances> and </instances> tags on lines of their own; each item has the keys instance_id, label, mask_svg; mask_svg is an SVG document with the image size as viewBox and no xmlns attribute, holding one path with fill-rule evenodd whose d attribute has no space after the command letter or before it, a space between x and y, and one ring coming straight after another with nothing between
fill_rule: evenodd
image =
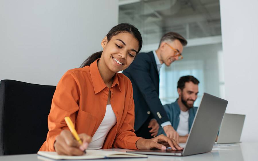
<instances>
[{"instance_id":1,"label":"large glass office partition behind the two men","mask_svg":"<svg viewBox=\"0 0 258 161\"><path fill-rule=\"evenodd\" d=\"M193 75L199 81L199 106L204 92L224 98L223 52L219 0L120 0L119 23L134 24L142 34L142 52L156 50L169 31L188 41L184 59L162 66L160 98L163 104L178 98L177 81Z\"/></svg>"}]
</instances>

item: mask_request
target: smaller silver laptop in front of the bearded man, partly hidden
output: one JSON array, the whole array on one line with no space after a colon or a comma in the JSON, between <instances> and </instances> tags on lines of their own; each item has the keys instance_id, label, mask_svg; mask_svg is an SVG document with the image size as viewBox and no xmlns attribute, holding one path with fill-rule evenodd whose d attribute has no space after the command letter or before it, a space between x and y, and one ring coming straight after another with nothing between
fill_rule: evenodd
<instances>
[{"instance_id":1,"label":"smaller silver laptop in front of the bearded man, partly hidden","mask_svg":"<svg viewBox=\"0 0 258 161\"><path fill-rule=\"evenodd\" d=\"M239 143L245 122L245 115L225 114L215 144Z\"/></svg>"}]
</instances>

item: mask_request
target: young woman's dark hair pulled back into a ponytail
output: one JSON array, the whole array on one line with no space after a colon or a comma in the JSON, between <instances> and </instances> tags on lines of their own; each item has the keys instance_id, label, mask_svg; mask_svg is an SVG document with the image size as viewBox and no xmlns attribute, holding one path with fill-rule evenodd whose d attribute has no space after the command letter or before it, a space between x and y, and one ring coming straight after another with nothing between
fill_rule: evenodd
<instances>
[{"instance_id":1,"label":"young woman's dark hair pulled back into a ponytail","mask_svg":"<svg viewBox=\"0 0 258 161\"><path fill-rule=\"evenodd\" d=\"M134 25L131 25L129 23L120 23L118 25L116 25L115 27L113 27L108 33L107 33L107 41L110 41L111 38L113 36L118 35L119 33L131 33L139 42L139 48L137 53L139 53L139 51L142 48L142 36L139 32L139 30L134 27ZM136 53L136 54L137 54ZM85 67L87 65L90 65L91 63L93 63L95 60L97 60L98 58L101 57L102 51L96 52L94 54L92 54L91 56L89 56L82 64L81 64L81 68Z\"/></svg>"}]
</instances>

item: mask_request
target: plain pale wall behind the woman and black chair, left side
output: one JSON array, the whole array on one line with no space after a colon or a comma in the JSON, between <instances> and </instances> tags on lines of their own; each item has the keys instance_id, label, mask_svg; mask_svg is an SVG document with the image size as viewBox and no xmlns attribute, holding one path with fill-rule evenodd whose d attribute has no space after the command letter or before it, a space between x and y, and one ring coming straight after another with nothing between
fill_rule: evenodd
<instances>
[{"instance_id":1,"label":"plain pale wall behind the woman and black chair, left side","mask_svg":"<svg viewBox=\"0 0 258 161\"><path fill-rule=\"evenodd\" d=\"M118 23L118 0L1 0L0 80L56 85Z\"/></svg>"}]
</instances>

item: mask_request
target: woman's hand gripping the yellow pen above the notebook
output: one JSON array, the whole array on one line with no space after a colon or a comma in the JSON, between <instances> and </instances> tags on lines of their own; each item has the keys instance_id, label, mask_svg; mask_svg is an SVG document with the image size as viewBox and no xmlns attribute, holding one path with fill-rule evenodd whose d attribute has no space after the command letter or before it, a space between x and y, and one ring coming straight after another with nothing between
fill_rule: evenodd
<instances>
[{"instance_id":1,"label":"woman's hand gripping the yellow pen above the notebook","mask_svg":"<svg viewBox=\"0 0 258 161\"><path fill-rule=\"evenodd\" d=\"M91 137L85 133L79 134L83 144L79 144L75 140L73 134L69 130L63 130L54 143L54 148L59 155L83 155L91 142Z\"/></svg>"}]
</instances>

